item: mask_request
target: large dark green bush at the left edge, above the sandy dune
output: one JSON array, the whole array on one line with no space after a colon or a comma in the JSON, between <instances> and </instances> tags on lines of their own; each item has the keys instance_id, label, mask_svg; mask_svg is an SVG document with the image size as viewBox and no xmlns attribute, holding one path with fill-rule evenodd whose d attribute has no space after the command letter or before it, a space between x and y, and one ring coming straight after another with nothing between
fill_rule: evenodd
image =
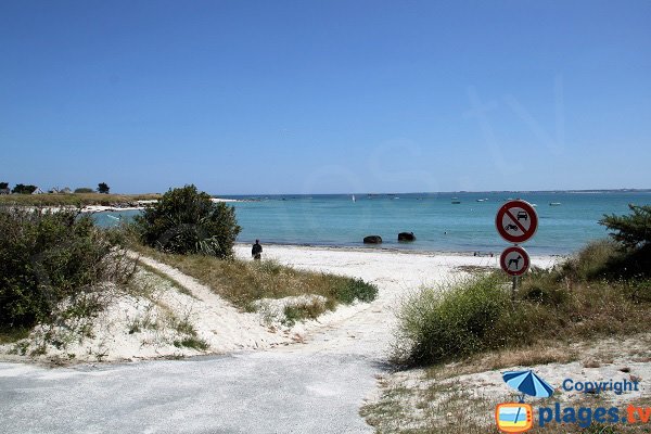
<instances>
[{"instance_id":1,"label":"large dark green bush at the left edge, above the sandy dune","mask_svg":"<svg viewBox=\"0 0 651 434\"><path fill-rule=\"evenodd\" d=\"M68 314L88 314L100 283L129 277L124 257L111 257L117 239L78 212L2 207L0 233L2 328L48 322L63 301Z\"/></svg>"}]
</instances>

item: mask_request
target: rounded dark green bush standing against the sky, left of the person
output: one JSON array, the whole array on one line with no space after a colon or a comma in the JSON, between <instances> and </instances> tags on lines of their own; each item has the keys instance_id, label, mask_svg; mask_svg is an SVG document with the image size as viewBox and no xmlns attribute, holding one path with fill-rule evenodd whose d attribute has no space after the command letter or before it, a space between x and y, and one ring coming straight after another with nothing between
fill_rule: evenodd
<instances>
[{"instance_id":1,"label":"rounded dark green bush standing against the sky, left of the person","mask_svg":"<svg viewBox=\"0 0 651 434\"><path fill-rule=\"evenodd\" d=\"M194 186L171 189L135 219L145 245L169 253L200 253L219 258L233 255L241 228L235 212L214 203Z\"/></svg>"}]
</instances>

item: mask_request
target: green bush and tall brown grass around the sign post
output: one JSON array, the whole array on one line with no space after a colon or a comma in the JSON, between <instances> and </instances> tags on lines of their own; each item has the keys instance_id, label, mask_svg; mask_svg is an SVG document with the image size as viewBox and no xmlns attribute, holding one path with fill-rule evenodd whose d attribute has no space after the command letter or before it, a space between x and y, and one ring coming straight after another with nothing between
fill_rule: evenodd
<instances>
[{"instance_id":1,"label":"green bush and tall brown grass around the sign post","mask_svg":"<svg viewBox=\"0 0 651 434\"><path fill-rule=\"evenodd\" d=\"M500 271L412 294L398 311L395 357L422 365L536 341L651 331L651 280L626 275L644 248L591 243L551 270L524 276L513 303Z\"/></svg>"}]
</instances>

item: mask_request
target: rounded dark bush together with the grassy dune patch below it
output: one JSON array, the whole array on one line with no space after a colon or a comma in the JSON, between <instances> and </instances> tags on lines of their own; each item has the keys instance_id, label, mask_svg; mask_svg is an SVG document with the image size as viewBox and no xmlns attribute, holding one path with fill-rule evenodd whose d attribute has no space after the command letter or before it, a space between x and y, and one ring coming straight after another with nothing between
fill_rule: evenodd
<instances>
[{"instance_id":1,"label":"rounded dark bush together with the grassy dune patch below it","mask_svg":"<svg viewBox=\"0 0 651 434\"><path fill-rule=\"evenodd\" d=\"M169 190L129 229L136 234L133 250L195 278L245 311L260 309L259 301L309 295L283 307L288 324L317 318L337 304L371 302L378 294L375 285L359 279L234 259L241 230L234 209L194 186Z\"/></svg>"}]
</instances>

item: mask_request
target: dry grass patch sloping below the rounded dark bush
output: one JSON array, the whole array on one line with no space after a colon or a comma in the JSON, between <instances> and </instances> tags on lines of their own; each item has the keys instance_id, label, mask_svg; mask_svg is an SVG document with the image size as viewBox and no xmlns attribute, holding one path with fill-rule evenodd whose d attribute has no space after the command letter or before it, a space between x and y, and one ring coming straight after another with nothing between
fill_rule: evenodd
<instances>
[{"instance_id":1,"label":"dry grass patch sloping below the rounded dark bush","mask_svg":"<svg viewBox=\"0 0 651 434\"><path fill-rule=\"evenodd\" d=\"M378 294L375 285L360 279L297 270L276 260L225 260L205 255L168 254L142 245L132 245L132 248L193 277L244 311L254 311L254 302L264 298L324 297L324 303L286 307L290 322L316 318L337 304L372 302Z\"/></svg>"}]
</instances>

